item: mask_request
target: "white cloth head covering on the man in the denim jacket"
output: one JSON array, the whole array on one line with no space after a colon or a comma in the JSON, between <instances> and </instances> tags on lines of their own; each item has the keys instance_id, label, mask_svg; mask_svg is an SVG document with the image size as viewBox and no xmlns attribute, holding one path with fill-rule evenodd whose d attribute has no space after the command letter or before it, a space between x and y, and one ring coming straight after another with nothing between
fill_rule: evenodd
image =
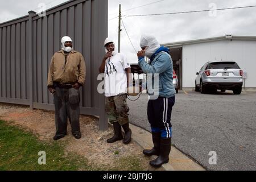
<instances>
[{"instance_id":1,"label":"white cloth head covering on the man in the denim jacket","mask_svg":"<svg viewBox=\"0 0 256 182\"><path fill-rule=\"evenodd\" d=\"M156 40L156 38L151 35L142 35L140 46L148 46L145 51L145 55L148 58L150 58L155 53L155 51L160 48L158 40Z\"/></svg>"}]
</instances>

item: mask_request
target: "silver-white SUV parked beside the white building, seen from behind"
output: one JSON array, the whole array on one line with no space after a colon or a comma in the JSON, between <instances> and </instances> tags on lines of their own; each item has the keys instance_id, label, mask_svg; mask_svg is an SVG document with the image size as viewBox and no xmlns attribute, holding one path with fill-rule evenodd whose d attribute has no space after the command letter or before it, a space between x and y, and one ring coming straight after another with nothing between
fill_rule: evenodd
<instances>
[{"instance_id":1,"label":"silver-white SUV parked beside the white building, seen from behind","mask_svg":"<svg viewBox=\"0 0 256 182\"><path fill-rule=\"evenodd\" d=\"M242 92L243 71L234 61L208 62L196 73L196 92L207 93L220 89L221 92L233 90L234 94Z\"/></svg>"}]
</instances>

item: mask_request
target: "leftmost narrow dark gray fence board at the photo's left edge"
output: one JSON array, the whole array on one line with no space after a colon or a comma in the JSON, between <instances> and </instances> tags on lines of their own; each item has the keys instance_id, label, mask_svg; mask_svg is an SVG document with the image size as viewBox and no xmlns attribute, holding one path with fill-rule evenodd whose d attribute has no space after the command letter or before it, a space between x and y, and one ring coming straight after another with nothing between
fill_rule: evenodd
<instances>
[{"instance_id":1,"label":"leftmost narrow dark gray fence board at the photo's left edge","mask_svg":"<svg viewBox=\"0 0 256 182\"><path fill-rule=\"evenodd\" d=\"M6 27L2 29L2 97L6 97Z\"/></svg>"}]
</instances>

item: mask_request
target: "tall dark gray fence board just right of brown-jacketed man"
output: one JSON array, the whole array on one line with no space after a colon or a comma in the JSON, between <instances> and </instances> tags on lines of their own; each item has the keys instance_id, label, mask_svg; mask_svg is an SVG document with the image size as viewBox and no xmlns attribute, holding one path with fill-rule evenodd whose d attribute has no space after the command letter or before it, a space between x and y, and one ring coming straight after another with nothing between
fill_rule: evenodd
<instances>
[{"instance_id":1,"label":"tall dark gray fence board just right of brown-jacketed man","mask_svg":"<svg viewBox=\"0 0 256 182\"><path fill-rule=\"evenodd\" d=\"M82 36L82 54L84 55L85 64L86 64L86 78L85 78L85 86L84 86L84 106L90 107L92 105L92 77L91 77L91 30L92 30L92 3L91 1L86 1L83 5L83 17L85 20L82 24L82 32L84 36Z\"/></svg>"}]
</instances>

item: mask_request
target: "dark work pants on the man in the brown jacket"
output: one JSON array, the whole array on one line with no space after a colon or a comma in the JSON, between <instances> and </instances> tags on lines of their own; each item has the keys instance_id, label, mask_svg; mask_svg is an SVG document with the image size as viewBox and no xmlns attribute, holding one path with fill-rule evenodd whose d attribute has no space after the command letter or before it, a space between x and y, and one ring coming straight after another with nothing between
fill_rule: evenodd
<instances>
[{"instance_id":1,"label":"dark work pants on the man in the brown jacket","mask_svg":"<svg viewBox=\"0 0 256 182\"><path fill-rule=\"evenodd\" d=\"M80 96L79 90L75 88L59 88L56 87L54 94L55 105L55 125L56 135L64 137L67 134L68 119L71 123L72 134L80 133Z\"/></svg>"}]
</instances>

